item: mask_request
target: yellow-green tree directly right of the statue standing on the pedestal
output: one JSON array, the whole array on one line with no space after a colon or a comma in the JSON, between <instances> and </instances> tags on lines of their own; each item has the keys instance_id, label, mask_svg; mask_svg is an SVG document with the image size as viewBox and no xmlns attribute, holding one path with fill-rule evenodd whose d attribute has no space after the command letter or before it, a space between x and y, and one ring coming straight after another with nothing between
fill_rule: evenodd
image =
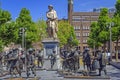
<instances>
[{"instance_id":1,"label":"yellow-green tree directly right of the statue standing on the pedestal","mask_svg":"<svg viewBox=\"0 0 120 80\"><path fill-rule=\"evenodd\" d=\"M60 40L61 47L68 44L69 46L78 45L78 40L76 39L73 26L71 26L67 21L59 21L57 35Z\"/></svg>"}]
</instances>

